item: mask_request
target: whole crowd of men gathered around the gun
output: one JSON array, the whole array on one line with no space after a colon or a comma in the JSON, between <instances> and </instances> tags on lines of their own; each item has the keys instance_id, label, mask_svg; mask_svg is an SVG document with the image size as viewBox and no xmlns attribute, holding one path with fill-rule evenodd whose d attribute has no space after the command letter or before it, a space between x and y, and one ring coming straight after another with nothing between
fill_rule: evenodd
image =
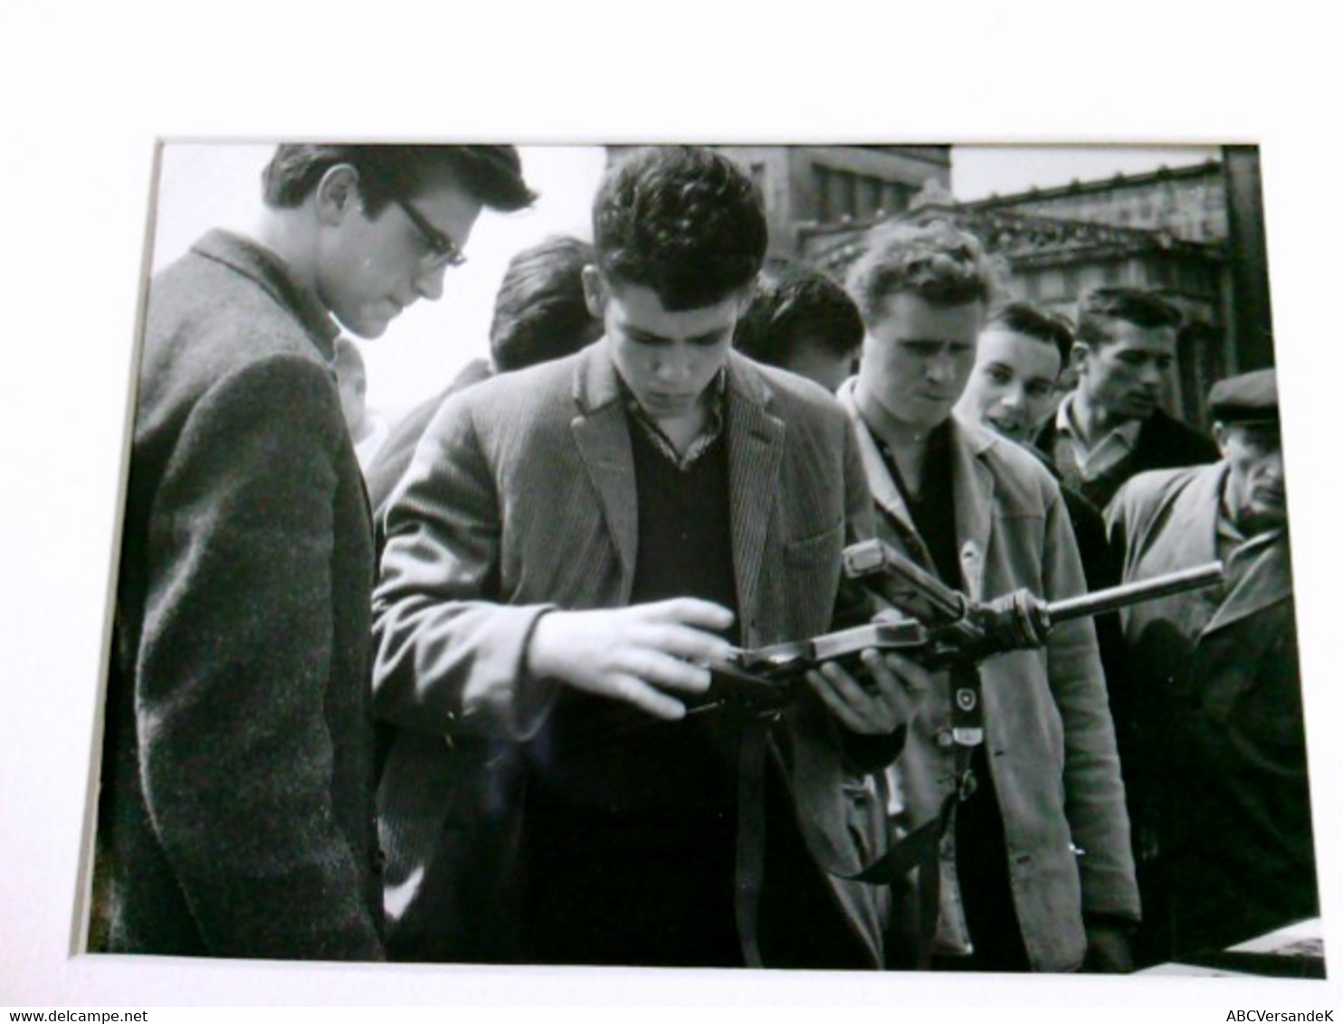
<instances>
[{"instance_id":1,"label":"whole crowd of men gathered around the gun","mask_svg":"<svg viewBox=\"0 0 1343 1024\"><path fill-rule=\"evenodd\" d=\"M514 258L488 362L372 423L341 330L436 299L518 154L281 145L263 185L149 289L95 948L1127 972L1317 913L1270 369L1207 438L1160 297L1074 330L941 223L842 283L767 262L749 176L658 146ZM972 601L1226 570L732 699L743 651L881 615L869 538Z\"/></svg>"}]
</instances>

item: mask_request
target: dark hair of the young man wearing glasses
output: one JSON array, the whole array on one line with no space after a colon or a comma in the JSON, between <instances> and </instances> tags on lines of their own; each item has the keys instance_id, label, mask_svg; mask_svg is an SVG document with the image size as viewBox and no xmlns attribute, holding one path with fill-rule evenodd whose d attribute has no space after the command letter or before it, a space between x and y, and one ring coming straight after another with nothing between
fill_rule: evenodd
<instances>
[{"instance_id":1,"label":"dark hair of the young man wearing glasses","mask_svg":"<svg viewBox=\"0 0 1343 1024\"><path fill-rule=\"evenodd\" d=\"M369 216L376 216L392 195L412 199L445 177L489 209L508 213L536 201L522 180L514 146L282 144L262 170L266 204L302 204L322 174L338 164L359 172L360 197Z\"/></svg>"}]
</instances>

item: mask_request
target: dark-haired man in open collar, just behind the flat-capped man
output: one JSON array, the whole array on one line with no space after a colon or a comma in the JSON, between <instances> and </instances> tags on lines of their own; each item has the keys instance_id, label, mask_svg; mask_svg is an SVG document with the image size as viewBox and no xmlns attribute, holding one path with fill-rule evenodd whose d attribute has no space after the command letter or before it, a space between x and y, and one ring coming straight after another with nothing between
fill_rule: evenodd
<instances>
[{"instance_id":1,"label":"dark-haired man in open collar, just behind the flat-capped man","mask_svg":"<svg viewBox=\"0 0 1343 1024\"><path fill-rule=\"evenodd\" d=\"M1136 472L1215 462L1217 446L1159 408L1180 313L1138 289L1097 289L1081 305L1077 389L1035 438L1064 482L1104 509Z\"/></svg>"}]
</instances>

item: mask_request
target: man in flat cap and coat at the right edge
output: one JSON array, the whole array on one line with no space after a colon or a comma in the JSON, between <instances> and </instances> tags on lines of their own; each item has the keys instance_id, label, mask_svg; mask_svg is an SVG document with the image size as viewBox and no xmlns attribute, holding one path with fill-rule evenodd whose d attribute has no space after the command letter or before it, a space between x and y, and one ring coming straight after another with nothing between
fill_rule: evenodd
<instances>
[{"instance_id":1,"label":"man in flat cap and coat at the right edge","mask_svg":"<svg viewBox=\"0 0 1343 1024\"><path fill-rule=\"evenodd\" d=\"M1123 615L1162 784L1143 891L1148 960L1187 958L1319 913L1275 372L1209 395L1222 458L1133 476L1107 519L1124 581L1221 560L1207 591Z\"/></svg>"}]
</instances>

